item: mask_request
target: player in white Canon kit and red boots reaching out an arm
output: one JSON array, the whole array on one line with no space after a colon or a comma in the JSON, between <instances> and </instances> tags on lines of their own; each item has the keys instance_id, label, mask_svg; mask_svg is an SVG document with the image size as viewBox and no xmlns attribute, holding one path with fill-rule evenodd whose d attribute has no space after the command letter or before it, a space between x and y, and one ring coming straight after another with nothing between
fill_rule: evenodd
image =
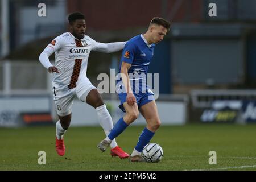
<instances>
[{"instance_id":1,"label":"player in white Canon kit and red boots reaching out an arm","mask_svg":"<svg viewBox=\"0 0 256 182\"><path fill-rule=\"evenodd\" d=\"M40 62L48 69L48 72L55 72L52 91L60 119L56 123L56 151L61 156L65 154L63 136L71 122L71 107L75 96L96 109L106 135L113 129L112 118L100 93L86 77L86 69L90 51L116 52L123 49L126 43L98 43L85 35L85 17L79 12L70 14L68 20L69 32L57 36L39 56ZM53 52L55 52L55 66L48 58ZM124 152L115 140L112 141L111 147L112 156L119 156L121 159L129 157L129 154Z\"/></svg>"}]
</instances>

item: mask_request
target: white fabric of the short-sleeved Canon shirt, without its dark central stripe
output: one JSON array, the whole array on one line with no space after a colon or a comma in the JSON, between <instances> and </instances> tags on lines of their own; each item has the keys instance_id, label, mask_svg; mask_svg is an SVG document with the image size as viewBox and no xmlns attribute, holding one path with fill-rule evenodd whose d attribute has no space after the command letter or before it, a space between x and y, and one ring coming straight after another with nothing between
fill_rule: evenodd
<instances>
[{"instance_id":1,"label":"white fabric of the short-sleeved Canon shirt, without its dark central stripe","mask_svg":"<svg viewBox=\"0 0 256 182\"><path fill-rule=\"evenodd\" d=\"M48 44L55 52L55 67L59 69L59 73L54 73L52 81L55 88L68 88L76 59L82 59L78 79L86 77L88 57L90 51L97 50L97 42L85 35L81 39L82 47L77 47L75 39L71 33L66 32Z\"/></svg>"}]
</instances>

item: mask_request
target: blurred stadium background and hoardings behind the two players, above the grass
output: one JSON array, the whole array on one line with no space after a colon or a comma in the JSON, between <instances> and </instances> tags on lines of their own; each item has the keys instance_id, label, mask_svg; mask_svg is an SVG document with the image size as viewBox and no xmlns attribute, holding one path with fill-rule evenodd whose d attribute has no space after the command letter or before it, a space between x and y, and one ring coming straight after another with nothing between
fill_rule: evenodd
<instances>
[{"instance_id":1,"label":"blurred stadium background and hoardings behind the two players, above the grass","mask_svg":"<svg viewBox=\"0 0 256 182\"><path fill-rule=\"evenodd\" d=\"M146 32L155 16L172 22L155 49L150 73L159 73L158 110L164 125L256 123L256 1L32 1L0 0L0 126L53 124L52 75L40 52L68 31L67 16L85 14L86 33L97 42L129 40ZM38 16L39 3L46 16ZM210 17L209 3L217 16ZM141 8L143 7L143 11ZM118 69L121 52L92 52L88 77ZM54 63L54 55L50 57ZM117 72L117 71L116 71ZM113 121L122 115L117 94L102 94ZM73 126L98 125L92 107L73 104ZM139 118L134 125L143 123Z\"/></svg>"}]
</instances>

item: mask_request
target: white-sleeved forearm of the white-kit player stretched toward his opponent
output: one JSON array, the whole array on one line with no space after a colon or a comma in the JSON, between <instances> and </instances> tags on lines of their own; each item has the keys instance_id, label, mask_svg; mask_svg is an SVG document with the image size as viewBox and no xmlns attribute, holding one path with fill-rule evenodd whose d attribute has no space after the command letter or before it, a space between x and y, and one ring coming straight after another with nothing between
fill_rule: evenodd
<instances>
[{"instance_id":1,"label":"white-sleeved forearm of the white-kit player stretched toward his opponent","mask_svg":"<svg viewBox=\"0 0 256 182\"><path fill-rule=\"evenodd\" d=\"M112 42L112 43L96 43L96 47L94 51L104 52L104 53L112 53L117 52L125 47L126 42Z\"/></svg>"}]
</instances>

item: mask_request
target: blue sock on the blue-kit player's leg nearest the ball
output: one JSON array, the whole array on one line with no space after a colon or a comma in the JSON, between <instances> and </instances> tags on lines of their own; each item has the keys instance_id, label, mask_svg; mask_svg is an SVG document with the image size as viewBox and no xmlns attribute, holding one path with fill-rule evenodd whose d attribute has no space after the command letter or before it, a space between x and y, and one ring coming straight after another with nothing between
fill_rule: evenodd
<instances>
[{"instance_id":1,"label":"blue sock on the blue-kit player's leg nearest the ball","mask_svg":"<svg viewBox=\"0 0 256 182\"><path fill-rule=\"evenodd\" d=\"M135 149L138 152L142 152L144 146L146 146L146 144L148 144L151 140L151 138L154 136L154 132L148 130L146 127L144 128L144 130L142 131L141 135L139 135L139 140L138 143L135 147Z\"/></svg>"}]
</instances>

